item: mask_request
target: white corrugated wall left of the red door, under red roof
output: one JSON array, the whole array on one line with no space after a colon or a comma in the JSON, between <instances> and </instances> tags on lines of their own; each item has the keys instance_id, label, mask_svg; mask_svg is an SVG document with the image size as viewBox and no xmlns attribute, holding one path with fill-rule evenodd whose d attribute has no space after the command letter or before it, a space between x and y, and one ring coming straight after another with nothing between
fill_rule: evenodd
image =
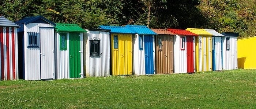
<instances>
[{"instance_id":1,"label":"white corrugated wall left of the red door, under red roof","mask_svg":"<svg viewBox=\"0 0 256 109\"><path fill-rule=\"evenodd\" d=\"M185 36L181 37L187 42ZM174 73L187 73L187 49L181 50L181 37L174 36Z\"/></svg>"}]
</instances>

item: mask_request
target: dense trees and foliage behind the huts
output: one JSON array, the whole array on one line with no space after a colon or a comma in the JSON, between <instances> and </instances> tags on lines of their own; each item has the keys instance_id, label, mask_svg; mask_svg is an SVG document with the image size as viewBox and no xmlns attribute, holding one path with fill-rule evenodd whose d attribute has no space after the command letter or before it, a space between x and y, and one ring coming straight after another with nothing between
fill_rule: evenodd
<instances>
[{"instance_id":1,"label":"dense trees and foliage behind the huts","mask_svg":"<svg viewBox=\"0 0 256 109\"><path fill-rule=\"evenodd\" d=\"M1 0L0 14L12 21L42 15L83 28L137 24L256 34L255 0Z\"/></svg>"}]
</instances>

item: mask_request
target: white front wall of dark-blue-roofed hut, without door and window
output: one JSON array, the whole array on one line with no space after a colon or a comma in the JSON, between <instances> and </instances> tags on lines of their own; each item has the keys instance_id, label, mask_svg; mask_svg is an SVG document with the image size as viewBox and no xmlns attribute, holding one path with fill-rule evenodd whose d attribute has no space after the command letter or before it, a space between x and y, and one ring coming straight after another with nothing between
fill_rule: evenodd
<instances>
[{"instance_id":1,"label":"white front wall of dark-blue-roofed hut, without door and window","mask_svg":"<svg viewBox=\"0 0 256 109\"><path fill-rule=\"evenodd\" d=\"M40 49L27 48L28 34L27 32L40 32L39 27L53 27L50 24L30 23L24 27L24 58L25 58L25 80L40 80ZM54 34L54 33L53 33Z\"/></svg>"}]
</instances>

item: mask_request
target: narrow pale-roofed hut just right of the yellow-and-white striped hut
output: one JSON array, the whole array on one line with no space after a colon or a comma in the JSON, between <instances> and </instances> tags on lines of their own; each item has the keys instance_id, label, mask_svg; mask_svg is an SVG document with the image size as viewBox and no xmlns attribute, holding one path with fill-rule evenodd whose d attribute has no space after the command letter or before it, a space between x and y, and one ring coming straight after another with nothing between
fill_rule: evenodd
<instances>
[{"instance_id":1,"label":"narrow pale-roofed hut just right of the yellow-and-white striped hut","mask_svg":"<svg viewBox=\"0 0 256 109\"><path fill-rule=\"evenodd\" d=\"M213 29L206 29L207 32L212 34L212 70L222 70L222 41L221 33L216 32Z\"/></svg>"}]
</instances>

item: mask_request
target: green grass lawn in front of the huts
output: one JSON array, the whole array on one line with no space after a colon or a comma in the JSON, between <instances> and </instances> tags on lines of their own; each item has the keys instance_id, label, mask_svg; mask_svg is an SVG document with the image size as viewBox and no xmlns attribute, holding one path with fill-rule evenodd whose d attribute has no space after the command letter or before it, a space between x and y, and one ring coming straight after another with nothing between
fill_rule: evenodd
<instances>
[{"instance_id":1,"label":"green grass lawn in front of the huts","mask_svg":"<svg viewBox=\"0 0 256 109\"><path fill-rule=\"evenodd\" d=\"M256 108L256 70L0 81L0 108Z\"/></svg>"}]
</instances>

